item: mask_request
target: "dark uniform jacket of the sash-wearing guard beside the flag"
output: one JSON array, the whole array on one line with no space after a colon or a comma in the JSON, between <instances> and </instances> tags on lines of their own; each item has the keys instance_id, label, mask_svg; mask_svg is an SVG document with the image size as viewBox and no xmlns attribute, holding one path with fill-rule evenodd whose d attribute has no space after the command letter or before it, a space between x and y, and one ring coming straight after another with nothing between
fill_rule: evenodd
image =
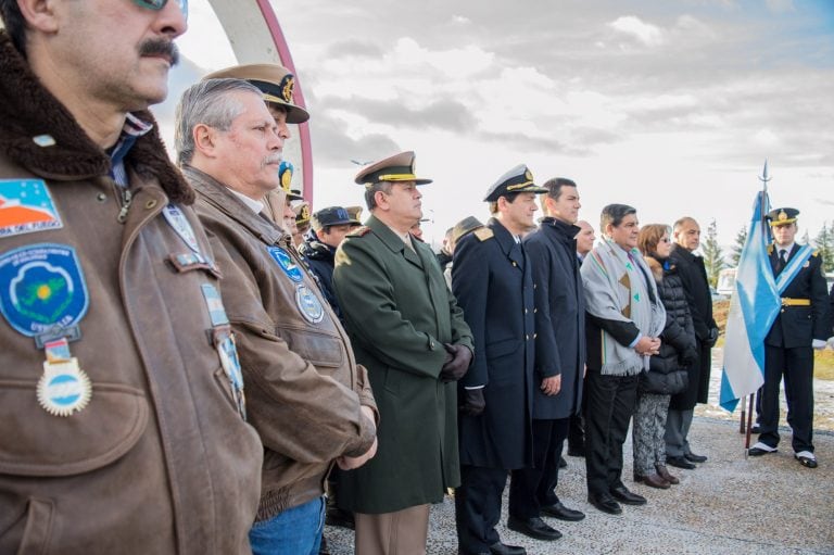
<instances>
[{"instance_id":1,"label":"dark uniform jacket of the sash-wearing guard beside the flag","mask_svg":"<svg viewBox=\"0 0 834 555\"><path fill-rule=\"evenodd\" d=\"M799 251L799 245L794 243L787 255L788 264ZM770 266L773 275L776 274L779 254L775 248L768 247ZM811 346L814 339L829 338L827 315L827 283L822 270L822 257L814 252L803 265L787 288L782 292L782 298L808 299L809 306L782 306L776 319L770 327L764 343L771 346L793 349L797 346Z\"/></svg>"}]
</instances>

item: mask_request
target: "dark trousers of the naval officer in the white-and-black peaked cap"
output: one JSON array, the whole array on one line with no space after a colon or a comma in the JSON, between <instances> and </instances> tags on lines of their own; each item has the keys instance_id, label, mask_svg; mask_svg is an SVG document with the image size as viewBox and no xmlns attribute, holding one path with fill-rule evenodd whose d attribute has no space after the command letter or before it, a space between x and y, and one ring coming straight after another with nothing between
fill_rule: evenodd
<instances>
[{"instance_id":1,"label":"dark trousers of the naval officer in the white-and-black peaked cap","mask_svg":"<svg viewBox=\"0 0 834 555\"><path fill-rule=\"evenodd\" d=\"M455 490L455 528L460 553L484 553L501 541L495 525L501 519L501 496L507 470L460 466L460 487Z\"/></svg>"}]
</instances>

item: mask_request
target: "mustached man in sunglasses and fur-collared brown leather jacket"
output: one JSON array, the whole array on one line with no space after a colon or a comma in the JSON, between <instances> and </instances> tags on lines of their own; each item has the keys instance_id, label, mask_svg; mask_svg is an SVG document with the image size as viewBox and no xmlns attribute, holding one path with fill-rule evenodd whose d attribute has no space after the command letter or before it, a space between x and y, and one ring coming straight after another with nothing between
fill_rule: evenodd
<instances>
[{"instance_id":1,"label":"mustached man in sunglasses and fur-collared brown leather jacket","mask_svg":"<svg viewBox=\"0 0 834 555\"><path fill-rule=\"evenodd\" d=\"M250 552L263 447L147 111L182 8L0 0L0 553Z\"/></svg>"}]
</instances>

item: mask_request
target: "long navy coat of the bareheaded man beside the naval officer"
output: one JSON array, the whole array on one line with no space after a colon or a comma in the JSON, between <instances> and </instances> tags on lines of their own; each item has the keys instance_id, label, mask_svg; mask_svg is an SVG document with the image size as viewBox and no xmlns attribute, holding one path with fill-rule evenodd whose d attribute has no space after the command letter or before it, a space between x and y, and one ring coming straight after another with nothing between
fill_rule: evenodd
<instances>
[{"instance_id":1,"label":"long navy coat of the bareheaded man beside the naval officer","mask_svg":"<svg viewBox=\"0 0 834 555\"><path fill-rule=\"evenodd\" d=\"M546 217L525 238L535 285L533 418L567 418L582 402L585 366L585 301L576 236L580 228ZM543 378L561 375L561 390L545 395Z\"/></svg>"}]
</instances>

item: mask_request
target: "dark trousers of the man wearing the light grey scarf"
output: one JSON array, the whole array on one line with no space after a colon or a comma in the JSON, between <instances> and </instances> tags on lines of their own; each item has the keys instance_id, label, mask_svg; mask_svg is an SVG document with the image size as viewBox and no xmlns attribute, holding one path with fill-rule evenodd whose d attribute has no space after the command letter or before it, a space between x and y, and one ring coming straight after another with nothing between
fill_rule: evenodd
<instances>
[{"instance_id":1,"label":"dark trousers of the man wearing the light grey scarf","mask_svg":"<svg viewBox=\"0 0 834 555\"><path fill-rule=\"evenodd\" d=\"M585 381L585 469L587 492L610 493L622 485L622 444L637 400L639 376L603 376L589 371Z\"/></svg>"}]
</instances>

